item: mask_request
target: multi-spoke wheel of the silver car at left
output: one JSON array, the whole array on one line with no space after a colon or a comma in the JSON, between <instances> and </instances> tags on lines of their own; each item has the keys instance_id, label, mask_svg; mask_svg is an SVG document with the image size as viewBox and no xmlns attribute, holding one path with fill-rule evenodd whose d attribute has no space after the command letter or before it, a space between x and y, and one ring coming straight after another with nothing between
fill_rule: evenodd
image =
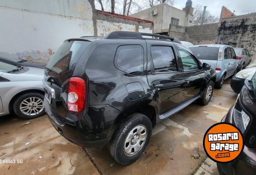
<instances>
[{"instance_id":1,"label":"multi-spoke wheel of the silver car at left","mask_svg":"<svg viewBox=\"0 0 256 175\"><path fill-rule=\"evenodd\" d=\"M19 96L13 104L14 113L22 119L34 119L42 116L44 96L40 93L27 93Z\"/></svg>"}]
</instances>

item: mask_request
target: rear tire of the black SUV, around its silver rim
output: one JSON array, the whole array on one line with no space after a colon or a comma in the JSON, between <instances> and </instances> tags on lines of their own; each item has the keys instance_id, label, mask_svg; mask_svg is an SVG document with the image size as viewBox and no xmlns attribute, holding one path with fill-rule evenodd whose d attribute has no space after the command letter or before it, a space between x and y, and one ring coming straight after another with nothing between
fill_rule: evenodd
<instances>
[{"instance_id":1,"label":"rear tire of the black SUV, around its silver rim","mask_svg":"<svg viewBox=\"0 0 256 175\"><path fill-rule=\"evenodd\" d=\"M125 140L128 138L128 135L130 133L136 133L136 135L138 135L138 130L134 133L134 128L141 126L143 126L144 129L146 129L146 131L144 131L144 133L146 133L145 141L141 143L140 140L136 140L136 143L132 144L132 141L134 140L131 139L131 141L126 141L125 143ZM140 133L143 133L143 130ZM132 138L134 138L136 135L133 135ZM115 131L111 141L108 143L108 150L112 158L115 159L117 163L122 165L131 164L143 154L143 152L145 151L146 147L149 144L151 135L152 123L150 119L141 113L133 113L119 125L119 128ZM135 153L136 151L133 148L134 155L127 156L127 154L125 153L125 147L133 147L137 145L137 143L142 145L141 148L138 149L138 152Z\"/></svg>"}]
</instances>

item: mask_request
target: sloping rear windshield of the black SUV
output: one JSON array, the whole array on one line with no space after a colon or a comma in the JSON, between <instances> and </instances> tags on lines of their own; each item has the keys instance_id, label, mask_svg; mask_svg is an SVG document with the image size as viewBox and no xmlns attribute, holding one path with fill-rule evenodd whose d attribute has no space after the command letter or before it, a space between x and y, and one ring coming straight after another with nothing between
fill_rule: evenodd
<instances>
[{"instance_id":1,"label":"sloping rear windshield of the black SUV","mask_svg":"<svg viewBox=\"0 0 256 175\"><path fill-rule=\"evenodd\" d=\"M89 44L89 41L65 41L51 57L46 68L59 74L66 72L71 63L78 61Z\"/></svg>"}]
</instances>

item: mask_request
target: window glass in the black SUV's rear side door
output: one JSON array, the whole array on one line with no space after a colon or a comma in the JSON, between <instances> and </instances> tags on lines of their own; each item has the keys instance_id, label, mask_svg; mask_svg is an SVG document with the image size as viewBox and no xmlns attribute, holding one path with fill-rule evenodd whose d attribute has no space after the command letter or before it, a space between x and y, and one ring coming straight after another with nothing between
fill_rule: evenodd
<instances>
[{"instance_id":1,"label":"window glass in the black SUV's rear side door","mask_svg":"<svg viewBox=\"0 0 256 175\"><path fill-rule=\"evenodd\" d=\"M171 46L151 46L151 57L155 72L178 71Z\"/></svg>"}]
</instances>

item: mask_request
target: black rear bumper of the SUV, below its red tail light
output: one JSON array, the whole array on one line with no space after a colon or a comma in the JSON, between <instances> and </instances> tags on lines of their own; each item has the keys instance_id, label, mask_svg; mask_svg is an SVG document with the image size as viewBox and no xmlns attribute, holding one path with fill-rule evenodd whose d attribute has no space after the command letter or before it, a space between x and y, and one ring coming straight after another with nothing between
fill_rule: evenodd
<instances>
[{"instance_id":1,"label":"black rear bumper of the SUV, below its red tail light","mask_svg":"<svg viewBox=\"0 0 256 175\"><path fill-rule=\"evenodd\" d=\"M101 147L106 145L118 124L115 119L119 111L108 105L86 107L86 110L75 116L72 113L63 118L51 109L46 98L45 111L54 128L67 140L81 147Z\"/></svg>"}]
</instances>

